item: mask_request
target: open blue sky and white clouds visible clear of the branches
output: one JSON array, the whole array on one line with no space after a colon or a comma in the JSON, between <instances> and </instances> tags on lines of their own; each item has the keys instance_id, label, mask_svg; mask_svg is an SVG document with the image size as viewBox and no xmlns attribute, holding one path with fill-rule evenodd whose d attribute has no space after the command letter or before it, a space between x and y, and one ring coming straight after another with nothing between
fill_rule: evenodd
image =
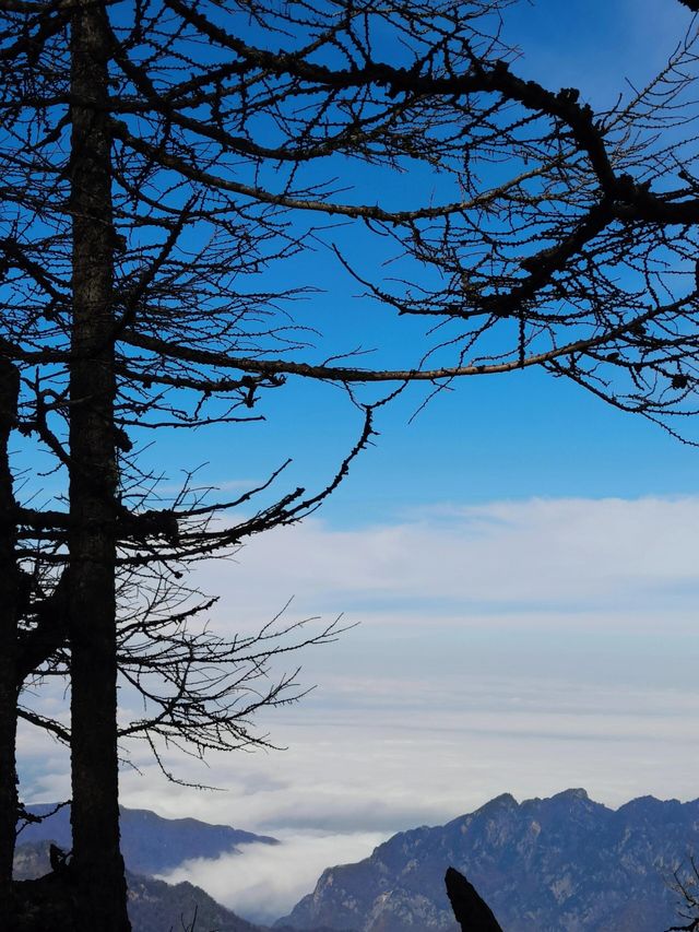
<instances>
[{"instance_id":1,"label":"open blue sky and white clouds visible clear of the branches","mask_svg":"<svg viewBox=\"0 0 699 932\"><path fill-rule=\"evenodd\" d=\"M662 66L689 22L675 0L537 0L513 8L506 37L522 73L608 104L625 78ZM414 358L419 328L377 322L327 250L294 274L328 286L298 311L329 345L391 335ZM318 689L264 719L289 750L215 757L210 770L173 759L224 794L167 788L138 753L145 776L123 774L128 805L286 839L284 889L269 851L237 861L235 882L225 861L177 875L250 916L262 882L280 915L322 866L503 791L584 786L614 805L699 793L699 449L543 374L460 384L411 422L423 392L381 414L376 446L319 515L199 570L228 633L292 595L292 617L359 623L304 658ZM185 453L222 486L288 455L287 484L317 484L358 427L340 392L298 385L270 402L269 424L202 433ZM154 456L175 477L181 437ZM29 798L64 798L62 752L24 733L23 754Z\"/></svg>"}]
</instances>

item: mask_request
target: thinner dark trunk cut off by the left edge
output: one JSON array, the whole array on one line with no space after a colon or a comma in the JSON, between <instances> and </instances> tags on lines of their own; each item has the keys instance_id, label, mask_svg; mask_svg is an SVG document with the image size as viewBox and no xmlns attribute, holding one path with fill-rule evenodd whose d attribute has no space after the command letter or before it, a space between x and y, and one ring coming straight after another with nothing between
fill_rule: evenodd
<instances>
[{"instance_id":1,"label":"thinner dark trunk cut off by the left edge","mask_svg":"<svg viewBox=\"0 0 699 932\"><path fill-rule=\"evenodd\" d=\"M17 701L17 583L14 496L8 443L16 417L20 378L0 358L0 917L12 911L12 858L17 818L15 770Z\"/></svg>"}]
</instances>

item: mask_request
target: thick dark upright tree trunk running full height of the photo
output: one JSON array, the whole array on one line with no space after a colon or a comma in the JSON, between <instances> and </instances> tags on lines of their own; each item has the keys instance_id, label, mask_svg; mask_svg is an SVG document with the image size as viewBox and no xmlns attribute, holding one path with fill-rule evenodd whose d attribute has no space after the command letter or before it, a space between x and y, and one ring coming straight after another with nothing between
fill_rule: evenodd
<instances>
[{"instance_id":1,"label":"thick dark upright tree trunk running full height of the photo","mask_svg":"<svg viewBox=\"0 0 699 932\"><path fill-rule=\"evenodd\" d=\"M78 0L71 32L73 323L70 641L73 864L81 932L126 932L119 850L112 307L114 227L105 7Z\"/></svg>"}]
</instances>

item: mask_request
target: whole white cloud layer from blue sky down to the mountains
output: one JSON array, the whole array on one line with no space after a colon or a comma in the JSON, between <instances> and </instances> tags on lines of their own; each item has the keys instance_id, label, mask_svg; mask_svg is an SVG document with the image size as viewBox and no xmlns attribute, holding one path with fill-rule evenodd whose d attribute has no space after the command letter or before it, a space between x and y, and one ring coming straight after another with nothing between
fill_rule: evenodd
<instances>
[{"instance_id":1,"label":"whole white cloud layer from blue sky down to the mountains","mask_svg":"<svg viewBox=\"0 0 699 932\"><path fill-rule=\"evenodd\" d=\"M214 755L208 770L166 755L183 779L225 793L171 787L137 751L144 777L125 770L122 801L307 845L300 896L320 868L355 857L345 845L443 823L500 792L692 798L697 553L689 497L450 506L394 526L309 521L254 539L236 563L202 573L223 594L220 628L259 625L294 593L294 617L347 609L362 625L300 658L316 692L261 716L288 751ZM35 739L22 753L26 798L63 799L66 758ZM242 902L274 873L266 849L250 853ZM225 892L226 864L187 870ZM274 889L275 904L293 893Z\"/></svg>"}]
</instances>

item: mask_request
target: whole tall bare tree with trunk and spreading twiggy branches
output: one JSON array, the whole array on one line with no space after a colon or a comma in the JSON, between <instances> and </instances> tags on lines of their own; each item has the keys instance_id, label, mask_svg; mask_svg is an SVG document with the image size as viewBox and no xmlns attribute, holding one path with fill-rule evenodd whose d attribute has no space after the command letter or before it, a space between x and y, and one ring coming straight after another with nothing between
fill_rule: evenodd
<instances>
[{"instance_id":1,"label":"whole tall bare tree with trunk and spreading twiggy branches","mask_svg":"<svg viewBox=\"0 0 699 932\"><path fill-rule=\"evenodd\" d=\"M236 654L192 633L190 610L158 607L157 586L150 607L141 587L129 622L120 574L123 593L140 568L167 581L312 511L390 397L367 384L439 391L538 367L675 433L696 411L695 35L648 87L594 113L573 89L517 74L499 38L508 5L0 0L0 802L16 793L19 685L69 670L81 929L128 929L119 663L159 708L140 733L204 751L235 736L226 703L241 684L193 681L191 651L224 677L229 661L251 662L247 677L259 660L254 644ZM411 179L399 198L382 185L395 173ZM356 267L340 221L393 259L390 280ZM299 288L274 287L271 270L319 241L367 299L426 319L407 359L370 367L343 346L323 358L289 320ZM254 420L292 377L343 387L363 413L324 488L258 498L228 521L210 519L248 503L158 498L145 432ZM16 462L34 445L62 483L54 507L32 497L38 479L15 500L15 428ZM149 671L176 688L154 692Z\"/></svg>"}]
</instances>

